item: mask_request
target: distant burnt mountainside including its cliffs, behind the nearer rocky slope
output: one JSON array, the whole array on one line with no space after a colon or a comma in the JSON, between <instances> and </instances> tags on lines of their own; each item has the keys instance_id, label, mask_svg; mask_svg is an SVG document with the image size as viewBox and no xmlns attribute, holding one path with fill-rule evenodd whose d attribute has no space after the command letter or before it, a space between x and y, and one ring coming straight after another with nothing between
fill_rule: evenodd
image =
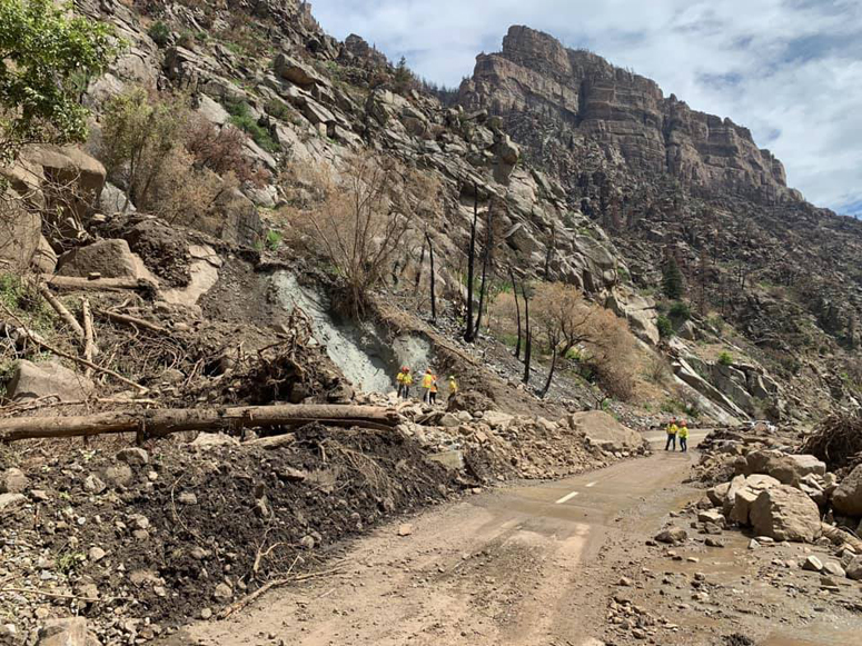
<instances>
[{"instance_id":1,"label":"distant burnt mountainside including its cliffs, behind the nearer rocky slope","mask_svg":"<svg viewBox=\"0 0 862 646\"><path fill-rule=\"evenodd\" d=\"M784 379L812 377L814 400L855 406L844 386L858 391L862 226L787 188L747 129L526 27L477 57L457 100L501 118L612 235L638 291L657 289L673 257L702 324L721 315Z\"/></svg>"}]
</instances>

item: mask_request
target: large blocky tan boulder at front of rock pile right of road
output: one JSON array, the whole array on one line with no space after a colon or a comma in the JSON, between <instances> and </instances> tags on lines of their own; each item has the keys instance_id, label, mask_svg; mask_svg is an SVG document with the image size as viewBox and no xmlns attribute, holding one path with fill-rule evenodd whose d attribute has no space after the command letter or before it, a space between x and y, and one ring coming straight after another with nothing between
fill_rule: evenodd
<instances>
[{"instance_id":1,"label":"large blocky tan boulder at front of rock pile right of road","mask_svg":"<svg viewBox=\"0 0 862 646\"><path fill-rule=\"evenodd\" d=\"M805 494L787 485L760 493L751 507L751 524L760 536L812 543L821 535L820 510Z\"/></svg>"}]
</instances>

